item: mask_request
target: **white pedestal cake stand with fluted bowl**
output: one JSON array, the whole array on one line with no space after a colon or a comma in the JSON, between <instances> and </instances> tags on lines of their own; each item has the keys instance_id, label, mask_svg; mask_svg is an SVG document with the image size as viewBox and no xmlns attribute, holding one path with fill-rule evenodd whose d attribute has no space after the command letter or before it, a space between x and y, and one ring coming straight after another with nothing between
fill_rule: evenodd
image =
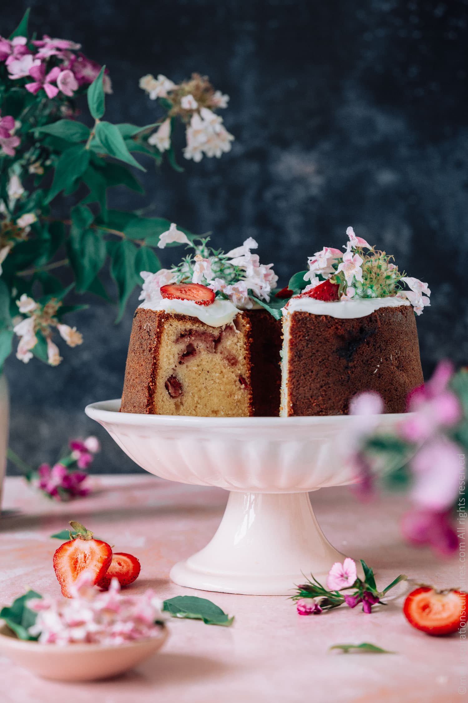
<instances>
[{"instance_id":1,"label":"white pedestal cake stand with fluted bowl","mask_svg":"<svg viewBox=\"0 0 468 703\"><path fill-rule=\"evenodd\" d=\"M342 451L369 418L192 418L119 413L120 400L93 403L97 420L138 465L164 479L229 492L213 539L171 569L180 586L289 595L311 572L325 579L342 561L323 535L308 491L354 482ZM390 429L402 415L380 415Z\"/></svg>"}]
</instances>

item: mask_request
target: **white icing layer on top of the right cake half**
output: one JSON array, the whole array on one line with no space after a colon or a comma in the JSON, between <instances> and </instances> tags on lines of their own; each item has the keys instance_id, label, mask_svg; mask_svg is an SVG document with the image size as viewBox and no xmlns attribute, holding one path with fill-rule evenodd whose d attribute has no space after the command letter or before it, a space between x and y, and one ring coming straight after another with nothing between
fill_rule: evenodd
<instances>
[{"instance_id":1,"label":"white icing layer on top of the right cake half","mask_svg":"<svg viewBox=\"0 0 468 703\"><path fill-rule=\"evenodd\" d=\"M400 305L410 305L410 302L395 295L387 298L359 298L330 302L309 297L293 297L290 298L282 311L283 315L293 312L309 312L312 315L329 315L341 320L351 320L356 317L366 317L381 307L399 307Z\"/></svg>"}]
</instances>

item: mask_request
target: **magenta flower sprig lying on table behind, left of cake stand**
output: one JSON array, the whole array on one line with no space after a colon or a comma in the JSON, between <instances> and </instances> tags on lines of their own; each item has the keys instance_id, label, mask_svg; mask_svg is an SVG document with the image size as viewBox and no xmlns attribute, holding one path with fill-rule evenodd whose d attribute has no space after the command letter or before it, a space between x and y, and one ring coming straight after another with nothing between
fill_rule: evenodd
<instances>
[{"instance_id":1,"label":"magenta flower sprig lying on table behind, left of cake stand","mask_svg":"<svg viewBox=\"0 0 468 703\"><path fill-rule=\"evenodd\" d=\"M53 466L43 463L36 470L27 466L11 449L8 449L8 458L25 472L27 481L44 496L55 501L71 501L87 496L91 490L85 484L87 470L100 451L100 442L97 437L72 439L68 449L68 453Z\"/></svg>"}]
</instances>

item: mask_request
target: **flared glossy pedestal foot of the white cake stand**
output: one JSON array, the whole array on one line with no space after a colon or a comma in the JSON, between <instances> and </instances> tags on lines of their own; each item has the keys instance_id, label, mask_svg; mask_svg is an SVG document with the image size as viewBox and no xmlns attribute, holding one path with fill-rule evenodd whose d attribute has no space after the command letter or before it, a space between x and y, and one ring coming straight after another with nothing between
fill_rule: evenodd
<instances>
[{"instance_id":1,"label":"flared glossy pedestal foot of the white cake stand","mask_svg":"<svg viewBox=\"0 0 468 703\"><path fill-rule=\"evenodd\" d=\"M325 583L340 554L323 535L307 493L229 494L213 539L171 569L180 586L250 595L291 595L311 573Z\"/></svg>"}]
</instances>

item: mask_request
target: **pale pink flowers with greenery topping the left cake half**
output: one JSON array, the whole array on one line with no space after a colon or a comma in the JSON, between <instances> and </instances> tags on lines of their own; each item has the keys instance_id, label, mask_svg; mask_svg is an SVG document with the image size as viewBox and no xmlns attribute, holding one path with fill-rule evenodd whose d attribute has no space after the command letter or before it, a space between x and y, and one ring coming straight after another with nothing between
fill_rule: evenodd
<instances>
[{"instance_id":1,"label":"pale pink flowers with greenery topping the left cake half","mask_svg":"<svg viewBox=\"0 0 468 703\"><path fill-rule=\"evenodd\" d=\"M273 264L260 264L258 254L252 253L251 250L258 247L255 240L249 237L243 245L227 254L211 249L208 241L209 237L189 240L175 224L171 224L171 228L161 234L158 246L162 249L168 244L185 244L193 252L171 269L161 269L156 273L142 271L140 275L145 283L140 300L157 304L161 300L161 286L168 283L201 283L215 291L216 297L229 299L236 307L250 309L254 302L260 305L269 302L278 276L273 271Z\"/></svg>"}]
</instances>

